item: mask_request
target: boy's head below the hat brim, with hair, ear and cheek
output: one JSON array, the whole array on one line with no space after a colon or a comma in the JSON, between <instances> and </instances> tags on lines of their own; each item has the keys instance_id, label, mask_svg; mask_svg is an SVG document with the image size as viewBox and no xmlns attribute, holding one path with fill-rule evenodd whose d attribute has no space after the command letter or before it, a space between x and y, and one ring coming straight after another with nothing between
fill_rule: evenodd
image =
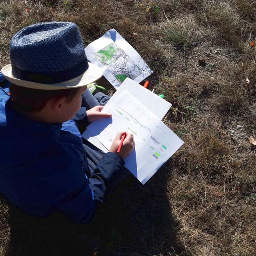
<instances>
[{"instance_id":1,"label":"boy's head below the hat brim, with hair, ear and cheek","mask_svg":"<svg viewBox=\"0 0 256 256\"><path fill-rule=\"evenodd\" d=\"M79 110L86 87L38 90L10 84L12 108L24 116L40 114L48 122L66 122Z\"/></svg>"}]
</instances>

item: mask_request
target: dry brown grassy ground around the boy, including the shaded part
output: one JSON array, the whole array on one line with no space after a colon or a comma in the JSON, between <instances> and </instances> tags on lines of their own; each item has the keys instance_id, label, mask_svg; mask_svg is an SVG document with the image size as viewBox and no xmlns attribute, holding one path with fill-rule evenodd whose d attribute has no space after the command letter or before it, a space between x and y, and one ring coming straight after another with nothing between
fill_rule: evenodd
<instances>
[{"instance_id":1,"label":"dry brown grassy ground around the boy, including the shaded part","mask_svg":"<svg viewBox=\"0 0 256 256\"><path fill-rule=\"evenodd\" d=\"M256 255L255 8L251 0L0 1L1 66L11 36L29 24L76 22L86 45L116 28L154 71L149 89L172 103L164 122L185 141L146 185L126 180L90 224L27 216L1 198L0 254Z\"/></svg>"}]
</instances>

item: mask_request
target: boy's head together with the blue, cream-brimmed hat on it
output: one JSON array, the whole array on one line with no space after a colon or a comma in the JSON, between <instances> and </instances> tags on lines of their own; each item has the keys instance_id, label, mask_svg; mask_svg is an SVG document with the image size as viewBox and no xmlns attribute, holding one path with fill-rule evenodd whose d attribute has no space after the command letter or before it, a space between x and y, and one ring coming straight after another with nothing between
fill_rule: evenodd
<instances>
[{"instance_id":1,"label":"boy's head together with the blue, cream-brimmed hat on it","mask_svg":"<svg viewBox=\"0 0 256 256\"><path fill-rule=\"evenodd\" d=\"M66 119L79 109L86 84L102 75L88 63L72 22L38 23L18 31L10 42L10 60L2 73L12 83L13 108L27 114L50 114L51 106L54 115Z\"/></svg>"}]
</instances>

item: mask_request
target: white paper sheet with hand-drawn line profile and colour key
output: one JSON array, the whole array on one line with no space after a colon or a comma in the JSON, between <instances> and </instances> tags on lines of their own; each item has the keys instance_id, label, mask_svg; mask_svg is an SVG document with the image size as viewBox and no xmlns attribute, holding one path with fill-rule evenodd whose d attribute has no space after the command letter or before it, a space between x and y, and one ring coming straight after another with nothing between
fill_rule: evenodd
<instances>
[{"instance_id":1,"label":"white paper sheet with hand-drawn line profile and colour key","mask_svg":"<svg viewBox=\"0 0 256 256\"><path fill-rule=\"evenodd\" d=\"M124 159L125 166L142 184L184 143L128 91L109 101L102 111L112 118L92 122L87 130L107 149L118 131L131 132L135 149Z\"/></svg>"}]
</instances>

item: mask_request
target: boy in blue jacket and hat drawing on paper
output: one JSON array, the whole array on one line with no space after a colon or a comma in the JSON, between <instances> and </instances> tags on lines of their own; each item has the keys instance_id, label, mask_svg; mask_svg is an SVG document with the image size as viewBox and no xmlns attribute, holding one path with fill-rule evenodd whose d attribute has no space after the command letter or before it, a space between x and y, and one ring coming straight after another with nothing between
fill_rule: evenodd
<instances>
[{"instance_id":1,"label":"boy in blue jacket and hat drawing on paper","mask_svg":"<svg viewBox=\"0 0 256 256\"><path fill-rule=\"evenodd\" d=\"M106 154L83 144L77 124L111 115L102 106L87 114L81 107L86 84L102 74L88 63L76 24L23 28L11 40L10 60L2 68L10 95L0 90L0 193L28 214L60 210L88 222L96 203L127 176L123 158L134 148L132 134L119 154L124 132Z\"/></svg>"}]
</instances>

